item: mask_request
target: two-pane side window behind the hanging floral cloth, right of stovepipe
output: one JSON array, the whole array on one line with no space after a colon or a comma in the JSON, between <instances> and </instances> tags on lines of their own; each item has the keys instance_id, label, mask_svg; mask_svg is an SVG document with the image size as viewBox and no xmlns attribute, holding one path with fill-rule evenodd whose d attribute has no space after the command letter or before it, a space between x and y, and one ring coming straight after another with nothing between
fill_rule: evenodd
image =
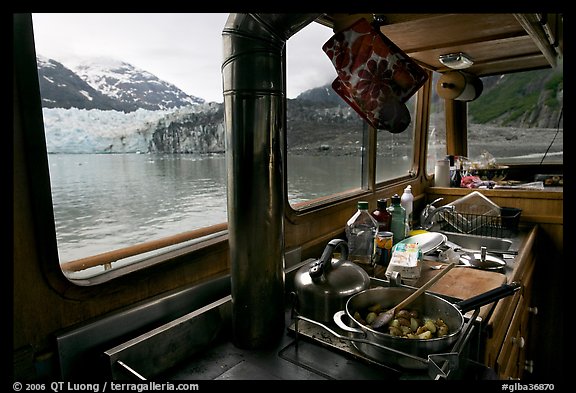
<instances>
[{"instance_id":1,"label":"two-pane side window behind the hanging floral cloth, right of stovepipe","mask_svg":"<svg viewBox=\"0 0 576 393\"><path fill-rule=\"evenodd\" d=\"M351 192L367 190L369 179L367 123L333 90L336 71L322 51L333 35L331 29L312 23L287 43L287 176L288 199L293 208L326 202ZM314 51L299 51L298 40L313 43ZM305 57L308 67L291 67L291 60ZM309 76L298 96L291 86L302 74ZM376 183L408 176L414 157L414 114L416 95L406 103L412 118L400 134L377 131Z\"/></svg>"}]
</instances>

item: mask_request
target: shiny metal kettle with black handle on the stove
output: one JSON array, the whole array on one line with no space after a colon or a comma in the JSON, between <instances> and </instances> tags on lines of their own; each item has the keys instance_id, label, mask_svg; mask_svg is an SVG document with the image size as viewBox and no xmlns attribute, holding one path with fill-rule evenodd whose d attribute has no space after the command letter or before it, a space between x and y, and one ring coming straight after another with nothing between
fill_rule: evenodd
<instances>
[{"instance_id":1,"label":"shiny metal kettle with black handle on the stove","mask_svg":"<svg viewBox=\"0 0 576 393\"><path fill-rule=\"evenodd\" d=\"M335 251L340 258L334 259ZM334 313L343 310L350 296L370 287L368 273L348 261L348 243L332 239L319 260L302 266L295 276L295 305L298 314L333 324Z\"/></svg>"}]
</instances>

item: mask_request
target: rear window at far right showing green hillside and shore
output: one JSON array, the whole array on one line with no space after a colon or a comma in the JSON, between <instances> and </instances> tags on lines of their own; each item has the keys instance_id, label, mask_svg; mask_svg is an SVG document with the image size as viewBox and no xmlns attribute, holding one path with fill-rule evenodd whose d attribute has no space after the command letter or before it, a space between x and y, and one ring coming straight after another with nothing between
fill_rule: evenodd
<instances>
[{"instance_id":1,"label":"rear window at far right showing green hillside and shore","mask_svg":"<svg viewBox=\"0 0 576 393\"><path fill-rule=\"evenodd\" d=\"M468 104L468 158L482 163L563 162L563 66L482 78Z\"/></svg>"}]
</instances>

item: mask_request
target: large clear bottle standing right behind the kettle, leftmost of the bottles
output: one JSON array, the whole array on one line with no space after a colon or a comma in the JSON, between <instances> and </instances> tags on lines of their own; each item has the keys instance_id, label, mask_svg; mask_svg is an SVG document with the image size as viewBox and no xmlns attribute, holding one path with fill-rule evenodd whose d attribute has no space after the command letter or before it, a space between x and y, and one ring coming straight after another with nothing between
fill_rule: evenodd
<instances>
[{"instance_id":1,"label":"large clear bottle standing right behind the kettle, leftmost of the bottles","mask_svg":"<svg viewBox=\"0 0 576 393\"><path fill-rule=\"evenodd\" d=\"M368 211L368 202L359 201L358 210L346 222L348 259L357 263L369 274L373 273L374 238L378 222Z\"/></svg>"}]
</instances>

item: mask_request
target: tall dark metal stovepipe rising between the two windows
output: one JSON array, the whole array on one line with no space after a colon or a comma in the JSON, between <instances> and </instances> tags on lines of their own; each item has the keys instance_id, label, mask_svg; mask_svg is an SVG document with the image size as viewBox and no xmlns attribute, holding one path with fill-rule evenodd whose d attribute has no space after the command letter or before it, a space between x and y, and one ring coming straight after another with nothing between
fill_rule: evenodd
<instances>
[{"instance_id":1,"label":"tall dark metal stovepipe rising between the two windows","mask_svg":"<svg viewBox=\"0 0 576 393\"><path fill-rule=\"evenodd\" d=\"M222 37L233 342L284 332L286 40L320 14L230 14Z\"/></svg>"}]
</instances>

